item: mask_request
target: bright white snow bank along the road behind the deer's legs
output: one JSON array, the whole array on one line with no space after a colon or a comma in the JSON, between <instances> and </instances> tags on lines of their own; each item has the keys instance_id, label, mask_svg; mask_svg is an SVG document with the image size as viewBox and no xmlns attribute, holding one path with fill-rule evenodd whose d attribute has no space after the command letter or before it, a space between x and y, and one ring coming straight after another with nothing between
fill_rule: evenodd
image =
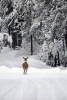
<instances>
[{"instance_id":1,"label":"bright white snow bank along the road behind the deer's legs","mask_svg":"<svg viewBox=\"0 0 67 100\"><path fill-rule=\"evenodd\" d=\"M6 67L6 66L0 66L0 74L23 74L23 68L18 68L18 67ZM67 69L61 70L60 68L49 68L49 69L38 69L34 67L29 67L28 69L28 75L35 75L35 74L45 74L45 73L66 73L67 74Z\"/></svg>"}]
</instances>

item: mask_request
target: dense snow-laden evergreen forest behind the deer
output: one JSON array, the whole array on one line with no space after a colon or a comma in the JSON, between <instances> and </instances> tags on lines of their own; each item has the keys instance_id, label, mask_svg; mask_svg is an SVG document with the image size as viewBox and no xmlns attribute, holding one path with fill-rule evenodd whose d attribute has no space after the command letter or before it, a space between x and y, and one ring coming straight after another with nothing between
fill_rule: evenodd
<instances>
[{"instance_id":1,"label":"dense snow-laden evergreen forest behind the deer","mask_svg":"<svg viewBox=\"0 0 67 100\"><path fill-rule=\"evenodd\" d=\"M47 65L67 66L66 0L0 0L0 33L0 52L24 48Z\"/></svg>"}]
</instances>

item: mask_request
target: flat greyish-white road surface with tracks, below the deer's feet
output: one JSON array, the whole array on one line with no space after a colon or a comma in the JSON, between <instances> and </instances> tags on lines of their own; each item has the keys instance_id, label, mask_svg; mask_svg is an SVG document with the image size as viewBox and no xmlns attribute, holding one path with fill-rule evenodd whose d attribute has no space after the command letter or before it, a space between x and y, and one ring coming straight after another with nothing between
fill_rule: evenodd
<instances>
[{"instance_id":1,"label":"flat greyish-white road surface with tracks, below the deer's feet","mask_svg":"<svg viewBox=\"0 0 67 100\"><path fill-rule=\"evenodd\" d=\"M65 89L67 80L65 78L64 80L60 77L38 78L30 77L30 75L19 78L13 81L13 86L9 84L11 87L8 86L6 92L2 92L0 100L67 100ZM9 79L6 83L10 83Z\"/></svg>"}]
</instances>

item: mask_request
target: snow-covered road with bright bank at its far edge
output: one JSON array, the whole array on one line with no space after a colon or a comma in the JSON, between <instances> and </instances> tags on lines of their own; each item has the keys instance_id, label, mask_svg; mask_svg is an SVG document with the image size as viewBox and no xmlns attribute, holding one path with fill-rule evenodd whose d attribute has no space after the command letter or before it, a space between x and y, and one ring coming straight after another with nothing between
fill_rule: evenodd
<instances>
[{"instance_id":1,"label":"snow-covered road with bright bank at its far edge","mask_svg":"<svg viewBox=\"0 0 67 100\"><path fill-rule=\"evenodd\" d=\"M67 72L46 70L30 68L23 75L21 68L2 66L0 100L67 100Z\"/></svg>"}]
</instances>

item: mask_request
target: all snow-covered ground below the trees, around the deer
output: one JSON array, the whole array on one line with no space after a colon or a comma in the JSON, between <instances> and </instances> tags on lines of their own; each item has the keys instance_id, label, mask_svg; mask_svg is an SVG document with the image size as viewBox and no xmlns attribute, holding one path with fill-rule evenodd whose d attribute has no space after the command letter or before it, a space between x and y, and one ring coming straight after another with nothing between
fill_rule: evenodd
<instances>
[{"instance_id":1,"label":"all snow-covered ground below the trees, around the deer","mask_svg":"<svg viewBox=\"0 0 67 100\"><path fill-rule=\"evenodd\" d=\"M29 57L23 75L19 51L4 48L0 54L0 100L67 100L67 69L51 68Z\"/></svg>"}]
</instances>

